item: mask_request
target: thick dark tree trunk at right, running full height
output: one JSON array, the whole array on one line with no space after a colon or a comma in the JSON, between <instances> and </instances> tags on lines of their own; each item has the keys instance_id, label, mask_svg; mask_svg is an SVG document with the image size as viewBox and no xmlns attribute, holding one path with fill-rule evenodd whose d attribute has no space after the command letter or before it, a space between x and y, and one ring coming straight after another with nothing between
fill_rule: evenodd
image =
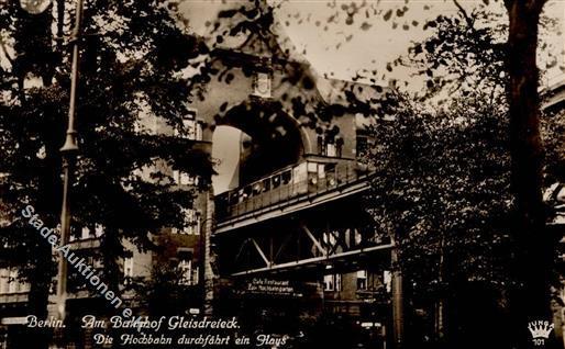
<instances>
[{"instance_id":1,"label":"thick dark tree trunk at right, running full height","mask_svg":"<svg viewBox=\"0 0 565 349\"><path fill-rule=\"evenodd\" d=\"M512 191L517 221L513 232L513 277L519 283L510 295L512 330L518 348L533 346L528 322L550 320L551 240L545 234L542 201L542 139L540 136L538 25L545 0L507 0L508 100ZM538 347L539 348L539 347Z\"/></svg>"}]
</instances>

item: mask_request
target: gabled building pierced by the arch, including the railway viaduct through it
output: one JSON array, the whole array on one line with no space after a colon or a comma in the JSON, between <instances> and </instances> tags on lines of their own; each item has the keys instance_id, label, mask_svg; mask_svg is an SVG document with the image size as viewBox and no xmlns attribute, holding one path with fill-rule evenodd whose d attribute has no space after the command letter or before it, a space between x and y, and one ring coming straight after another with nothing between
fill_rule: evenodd
<instances>
[{"instance_id":1,"label":"gabled building pierced by the arch, including the railway viaduct through it","mask_svg":"<svg viewBox=\"0 0 565 349\"><path fill-rule=\"evenodd\" d=\"M155 234L158 252L123 241L126 257L113 286L125 305L137 315L237 316L250 333L296 341L386 348L401 340L392 322L392 297L401 293L392 282L394 244L362 205L372 174L362 158L372 142L368 115L348 110L352 94L372 103L381 89L321 77L278 23L214 45L202 68L212 78L189 101L188 132L175 133L148 115L141 115L139 132L187 137L212 156L215 130L237 128L237 176L228 191L213 192L199 185L211 179L159 160L143 169L147 178L165 172L198 194L185 212L185 229L163 227ZM70 239L73 250L100 272L108 268L103 234L103 226L74 226ZM3 348L18 348L29 313L29 285L16 274L16 269L0 271ZM180 290L169 304L151 296L165 277ZM54 294L49 303L55 315ZM93 346L91 331L79 329L84 314L104 317L108 304L69 272L67 335L76 348ZM321 335L328 328L336 329L333 337Z\"/></svg>"}]
</instances>

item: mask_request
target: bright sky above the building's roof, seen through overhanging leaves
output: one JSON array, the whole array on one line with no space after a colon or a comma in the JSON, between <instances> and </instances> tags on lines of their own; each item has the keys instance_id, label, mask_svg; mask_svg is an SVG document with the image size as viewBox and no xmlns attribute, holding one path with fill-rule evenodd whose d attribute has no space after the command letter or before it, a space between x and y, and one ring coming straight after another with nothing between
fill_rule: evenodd
<instances>
[{"instance_id":1,"label":"bright sky above the building's roof, seen through overhanging leaves","mask_svg":"<svg viewBox=\"0 0 565 349\"><path fill-rule=\"evenodd\" d=\"M336 7L330 0L285 0L278 20L285 24L287 34L298 47L299 52L306 50L306 57L321 74L329 77L350 80L357 71L377 69L380 77L386 71L386 64L407 53L411 42L420 41L430 33L422 31L422 24L435 18L437 14L454 13L457 11L451 0L413 1L409 7L397 29L392 29L392 21L384 21L383 16L372 15L366 19L363 11L356 15L353 24L345 24L344 11L340 10L342 3L352 1L336 1ZM363 3L364 1L353 1ZM367 7L375 9L396 9L403 4L403 1L365 1ZM233 1L222 4L222 1L186 1L181 9L189 19L190 26L198 34L206 35L209 27L207 22L213 21L219 9L233 5ZM463 1L467 10L481 3L481 1ZM429 8L424 10L424 7ZM490 7L492 11L505 13L500 2L494 1ZM329 19L335 12L341 12L329 23ZM565 19L565 2L553 0L545 7L545 12L551 18ZM418 26L411 26L408 31L402 29L405 23L417 21ZM287 23L288 22L288 23ZM366 23L364 25L364 23ZM289 25L286 25L289 24ZM563 24L562 24L563 26ZM324 30L326 27L326 30ZM362 29L363 27L363 29ZM352 35L353 34L353 35ZM555 35L549 41L554 45L554 55L558 55L565 46L563 33ZM352 35L352 36L351 36ZM543 57L540 57L541 61ZM395 69L389 77L405 80L410 76L410 70ZM558 75L558 69L550 72L550 77Z\"/></svg>"}]
</instances>

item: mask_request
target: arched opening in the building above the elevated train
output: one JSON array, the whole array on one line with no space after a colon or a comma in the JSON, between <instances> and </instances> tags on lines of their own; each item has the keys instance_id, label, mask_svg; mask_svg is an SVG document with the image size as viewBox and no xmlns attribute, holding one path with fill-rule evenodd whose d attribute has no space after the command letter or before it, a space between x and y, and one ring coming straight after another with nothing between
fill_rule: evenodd
<instances>
[{"instance_id":1,"label":"arched opening in the building above the elevated train","mask_svg":"<svg viewBox=\"0 0 565 349\"><path fill-rule=\"evenodd\" d=\"M215 122L217 195L296 164L303 155L299 126L279 103L242 103Z\"/></svg>"}]
</instances>

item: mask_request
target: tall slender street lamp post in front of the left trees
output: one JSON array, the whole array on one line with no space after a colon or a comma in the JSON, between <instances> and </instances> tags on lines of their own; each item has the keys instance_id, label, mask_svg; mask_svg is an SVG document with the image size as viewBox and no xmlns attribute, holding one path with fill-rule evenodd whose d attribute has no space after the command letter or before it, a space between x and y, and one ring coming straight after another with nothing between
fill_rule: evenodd
<instances>
[{"instance_id":1,"label":"tall slender street lamp post in front of the left trees","mask_svg":"<svg viewBox=\"0 0 565 349\"><path fill-rule=\"evenodd\" d=\"M70 177L76 162L78 153L77 132L75 130L75 113L76 113L76 99L77 99L77 85L78 85L78 70L79 70L79 40L80 27L82 21L82 4L84 0L77 0L76 14L75 14L75 29L73 30L71 44L73 44L73 66L70 72L70 100L68 108L68 126L65 144L60 148L63 156L63 204L60 210L60 245L68 244L70 235L70 204L69 204L69 188ZM57 272L57 314L58 318L64 320L66 315L66 301L67 301L67 260L59 256L58 272Z\"/></svg>"}]
</instances>

